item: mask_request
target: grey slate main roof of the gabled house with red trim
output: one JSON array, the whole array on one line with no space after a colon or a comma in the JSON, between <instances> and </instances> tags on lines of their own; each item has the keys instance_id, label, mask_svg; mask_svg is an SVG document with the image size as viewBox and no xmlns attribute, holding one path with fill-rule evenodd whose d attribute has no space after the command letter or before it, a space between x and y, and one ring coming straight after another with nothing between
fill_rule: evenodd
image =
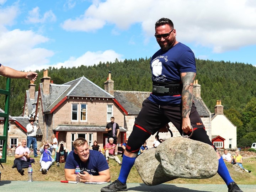
<instances>
[{"instance_id":1,"label":"grey slate main roof of the gabled house with red trim","mask_svg":"<svg viewBox=\"0 0 256 192\"><path fill-rule=\"evenodd\" d=\"M43 93L42 83L40 84L40 89L41 93ZM114 98L111 94L101 89L101 87L94 84L89 79L86 79L84 76L63 85L50 84L50 94L41 95L44 112L50 112L50 110L66 96Z\"/></svg>"}]
</instances>

